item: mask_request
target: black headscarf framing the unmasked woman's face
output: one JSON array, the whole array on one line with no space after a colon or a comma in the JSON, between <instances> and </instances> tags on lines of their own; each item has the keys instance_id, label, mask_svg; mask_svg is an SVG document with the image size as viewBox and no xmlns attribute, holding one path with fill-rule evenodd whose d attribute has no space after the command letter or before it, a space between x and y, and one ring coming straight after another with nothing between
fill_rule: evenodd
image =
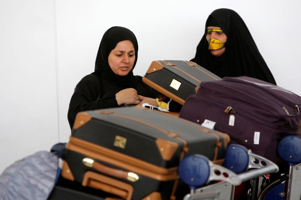
<instances>
[{"instance_id":1,"label":"black headscarf framing the unmasked woman's face","mask_svg":"<svg viewBox=\"0 0 301 200\"><path fill-rule=\"evenodd\" d=\"M118 42L130 40L135 48L135 62L132 70L125 76L115 74L109 66L108 56L116 47ZM106 79L120 88L129 88L136 85L134 81L133 69L135 68L138 58L138 42L132 31L124 27L111 27L104 34L100 42L98 53L95 61L95 73L98 73L101 78Z\"/></svg>"}]
</instances>

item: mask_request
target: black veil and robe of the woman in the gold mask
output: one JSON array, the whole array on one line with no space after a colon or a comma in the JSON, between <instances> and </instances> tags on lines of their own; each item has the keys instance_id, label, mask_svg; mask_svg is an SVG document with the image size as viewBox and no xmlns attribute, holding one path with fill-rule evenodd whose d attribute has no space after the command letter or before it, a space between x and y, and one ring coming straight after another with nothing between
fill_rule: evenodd
<instances>
[{"instance_id":1,"label":"black veil and robe of the woman in the gold mask","mask_svg":"<svg viewBox=\"0 0 301 200\"><path fill-rule=\"evenodd\" d=\"M220 27L227 36L225 52L219 57L213 56L208 50L206 34L209 26ZM245 22L230 9L217 9L209 15L205 33L192 61L221 78L248 76L276 85Z\"/></svg>"}]
</instances>

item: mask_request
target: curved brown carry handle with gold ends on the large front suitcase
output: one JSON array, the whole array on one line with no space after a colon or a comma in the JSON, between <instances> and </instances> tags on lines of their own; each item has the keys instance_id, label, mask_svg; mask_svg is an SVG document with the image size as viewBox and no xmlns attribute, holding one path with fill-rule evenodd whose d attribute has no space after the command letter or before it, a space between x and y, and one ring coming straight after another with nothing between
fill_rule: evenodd
<instances>
[{"instance_id":1,"label":"curved brown carry handle with gold ends on the large front suitcase","mask_svg":"<svg viewBox=\"0 0 301 200\"><path fill-rule=\"evenodd\" d=\"M119 170L119 169L114 169L114 168L110 168L108 166L105 166L101 163L96 162L95 160L91 159L91 158L84 158L82 159L82 163L84 165L86 165L87 167L91 167L93 169L96 169L99 172L108 174L110 176L114 176L117 178L123 178L123 179L127 179L131 182L136 182L139 180L139 176L135 173L132 172L126 172L123 170Z\"/></svg>"}]
</instances>

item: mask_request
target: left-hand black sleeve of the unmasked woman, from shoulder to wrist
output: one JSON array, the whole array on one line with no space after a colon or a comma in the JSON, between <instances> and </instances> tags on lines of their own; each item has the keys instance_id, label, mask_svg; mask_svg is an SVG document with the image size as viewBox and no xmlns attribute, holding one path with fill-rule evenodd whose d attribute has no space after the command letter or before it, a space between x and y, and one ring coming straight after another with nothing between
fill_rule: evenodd
<instances>
[{"instance_id":1,"label":"left-hand black sleeve of the unmasked woman, from shoulder to wrist","mask_svg":"<svg viewBox=\"0 0 301 200\"><path fill-rule=\"evenodd\" d=\"M90 74L85 76L77 84L70 100L67 115L71 129L78 112L118 107L114 93L106 93L103 97L98 99L100 93L100 81L98 80L98 77L94 75Z\"/></svg>"}]
</instances>

